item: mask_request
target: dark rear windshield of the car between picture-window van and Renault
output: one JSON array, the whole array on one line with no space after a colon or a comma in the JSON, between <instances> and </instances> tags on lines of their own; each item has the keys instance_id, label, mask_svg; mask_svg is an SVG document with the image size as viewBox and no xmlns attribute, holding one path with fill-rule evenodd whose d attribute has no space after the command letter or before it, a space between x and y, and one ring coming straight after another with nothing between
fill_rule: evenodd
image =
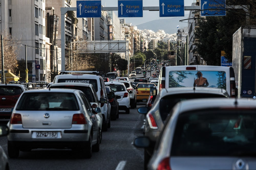
<instances>
[{"instance_id":1,"label":"dark rear windshield of the car between picture-window van and Renault","mask_svg":"<svg viewBox=\"0 0 256 170\"><path fill-rule=\"evenodd\" d=\"M210 93L184 93L184 94L175 94L175 95L167 95L164 96L159 102L159 111L164 121L166 117L169 115L173 106L183 100L188 99L199 99L199 98L226 98L225 95L222 94L210 94Z\"/></svg>"}]
</instances>

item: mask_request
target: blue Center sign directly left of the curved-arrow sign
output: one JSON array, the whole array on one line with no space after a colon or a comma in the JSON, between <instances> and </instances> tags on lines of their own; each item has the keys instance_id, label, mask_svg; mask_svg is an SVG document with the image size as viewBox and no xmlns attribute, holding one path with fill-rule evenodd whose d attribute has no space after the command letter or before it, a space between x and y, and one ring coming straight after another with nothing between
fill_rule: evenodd
<instances>
[{"instance_id":1,"label":"blue Center sign directly left of the curved-arrow sign","mask_svg":"<svg viewBox=\"0 0 256 170\"><path fill-rule=\"evenodd\" d=\"M184 0L159 0L160 17L184 17Z\"/></svg>"}]
</instances>

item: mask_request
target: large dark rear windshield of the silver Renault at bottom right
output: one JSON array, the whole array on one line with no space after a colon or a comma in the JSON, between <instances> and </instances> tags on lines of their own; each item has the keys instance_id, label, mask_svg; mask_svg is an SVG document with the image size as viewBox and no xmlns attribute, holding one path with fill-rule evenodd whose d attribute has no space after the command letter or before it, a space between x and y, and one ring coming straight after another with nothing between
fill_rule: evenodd
<instances>
[{"instance_id":1,"label":"large dark rear windshield of the silver Renault at bottom right","mask_svg":"<svg viewBox=\"0 0 256 170\"><path fill-rule=\"evenodd\" d=\"M197 110L179 115L171 156L256 155L256 110Z\"/></svg>"}]
</instances>

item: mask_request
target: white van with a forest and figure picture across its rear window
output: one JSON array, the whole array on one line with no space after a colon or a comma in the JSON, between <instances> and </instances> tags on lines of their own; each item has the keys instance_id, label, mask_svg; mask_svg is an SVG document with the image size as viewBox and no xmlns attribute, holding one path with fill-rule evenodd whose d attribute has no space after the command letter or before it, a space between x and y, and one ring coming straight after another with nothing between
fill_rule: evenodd
<instances>
[{"instance_id":1,"label":"white van with a forest and figure picture across its rear window","mask_svg":"<svg viewBox=\"0 0 256 170\"><path fill-rule=\"evenodd\" d=\"M237 96L234 69L223 66L168 66L159 74L158 91L172 87L212 87L228 91L230 97Z\"/></svg>"}]
</instances>

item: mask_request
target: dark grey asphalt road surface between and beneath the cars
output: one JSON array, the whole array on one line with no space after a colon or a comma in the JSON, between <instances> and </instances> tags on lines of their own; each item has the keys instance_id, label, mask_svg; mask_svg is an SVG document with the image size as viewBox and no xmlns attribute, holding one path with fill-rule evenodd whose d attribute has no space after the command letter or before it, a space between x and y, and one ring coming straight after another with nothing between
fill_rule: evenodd
<instances>
[{"instance_id":1,"label":"dark grey asphalt road surface between and beneath the cars","mask_svg":"<svg viewBox=\"0 0 256 170\"><path fill-rule=\"evenodd\" d=\"M144 103L137 104L137 108ZM10 169L143 169L144 150L131 143L136 136L142 136L144 115L130 109L119 119L111 121L111 128L103 132L100 151L93 152L91 159L81 159L71 150L36 149L20 152L17 159L9 159ZM6 122L1 122L6 123ZM7 153L7 137L0 137L0 145Z\"/></svg>"}]
</instances>

